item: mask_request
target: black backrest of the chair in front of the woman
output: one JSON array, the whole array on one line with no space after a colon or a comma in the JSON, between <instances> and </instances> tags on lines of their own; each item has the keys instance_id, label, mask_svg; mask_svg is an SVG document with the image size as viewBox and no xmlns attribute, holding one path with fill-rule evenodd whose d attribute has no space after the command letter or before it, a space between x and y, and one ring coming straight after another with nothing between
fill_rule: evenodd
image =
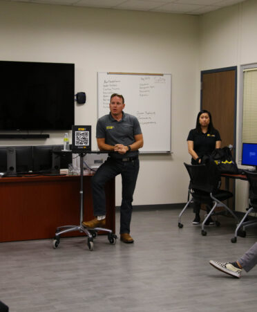
<instances>
[{"instance_id":1,"label":"black backrest of the chair in front of the woman","mask_svg":"<svg viewBox=\"0 0 257 312\"><path fill-rule=\"evenodd\" d=\"M190 176L191 188L203 192L214 192L218 189L220 173L215 163L189 165L184 163Z\"/></svg>"}]
</instances>

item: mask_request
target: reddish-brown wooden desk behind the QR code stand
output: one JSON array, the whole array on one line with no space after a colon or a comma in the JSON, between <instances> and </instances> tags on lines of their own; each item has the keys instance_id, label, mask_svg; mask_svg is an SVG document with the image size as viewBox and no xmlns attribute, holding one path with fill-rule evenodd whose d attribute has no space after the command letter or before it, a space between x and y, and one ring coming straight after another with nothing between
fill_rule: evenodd
<instances>
[{"instance_id":1,"label":"reddish-brown wooden desk behind the QR code stand","mask_svg":"<svg viewBox=\"0 0 257 312\"><path fill-rule=\"evenodd\" d=\"M84 220L93 219L91 177L84 176ZM79 225L79 176L0 178L0 200L0 242L48 239L58 226ZM106 183L106 228L115 233L114 179Z\"/></svg>"}]
</instances>

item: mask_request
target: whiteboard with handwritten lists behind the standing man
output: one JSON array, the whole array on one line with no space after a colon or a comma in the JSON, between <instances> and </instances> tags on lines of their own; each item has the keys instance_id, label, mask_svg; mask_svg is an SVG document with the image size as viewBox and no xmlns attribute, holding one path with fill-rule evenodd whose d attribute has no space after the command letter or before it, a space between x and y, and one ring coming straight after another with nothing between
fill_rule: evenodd
<instances>
[{"instance_id":1,"label":"whiteboard with handwritten lists behind the standing man","mask_svg":"<svg viewBox=\"0 0 257 312\"><path fill-rule=\"evenodd\" d=\"M171 74L97 73L98 118L110 112L113 93L124 96L125 113L137 117L144 153L171 152Z\"/></svg>"}]
</instances>

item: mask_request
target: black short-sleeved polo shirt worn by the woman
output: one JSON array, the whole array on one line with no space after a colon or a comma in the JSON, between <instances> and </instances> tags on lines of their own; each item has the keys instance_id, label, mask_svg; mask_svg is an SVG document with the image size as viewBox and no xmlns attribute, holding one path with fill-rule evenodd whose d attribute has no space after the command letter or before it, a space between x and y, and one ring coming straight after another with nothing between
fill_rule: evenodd
<instances>
[{"instance_id":1,"label":"black short-sleeved polo shirt worn by the woman","mask_svg":"<svg viewBox=\"0 0 257 312\"><path fill-rule=\"evenodd\" d=\"M203 134L202 132L198 133L196 129L191 129L187 137L187 141L193 141L193 150L198 154L198 157L211 154L216 147L216 141L220 140L220 134L216 129L211 134L209 131Z\"/></svg>"}]
</instances>

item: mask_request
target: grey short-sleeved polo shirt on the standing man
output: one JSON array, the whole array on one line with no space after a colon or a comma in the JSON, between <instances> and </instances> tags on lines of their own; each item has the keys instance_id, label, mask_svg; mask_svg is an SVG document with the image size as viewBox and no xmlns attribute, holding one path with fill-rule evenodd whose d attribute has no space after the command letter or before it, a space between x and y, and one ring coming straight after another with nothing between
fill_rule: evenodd
<instances>
[{"instance_id":1,"label":"grey short-sleeved polo shirt on the standing man","mask_svg":"<svg viewBox=\"0 0 257 312\"><path fill-rule=\"evenodd\" d=\"M97 121L96 129L97 138L105 138L108 145L122 144L131 145L135 142L134 136L142 134L140 123L135 116L122 111L122 120L117 121L111 116L111 112ZM126 152L126 154L118 154L117 152L109 153L113 158L135 157L138 151Z\"/></svg>"}]
</instances>

